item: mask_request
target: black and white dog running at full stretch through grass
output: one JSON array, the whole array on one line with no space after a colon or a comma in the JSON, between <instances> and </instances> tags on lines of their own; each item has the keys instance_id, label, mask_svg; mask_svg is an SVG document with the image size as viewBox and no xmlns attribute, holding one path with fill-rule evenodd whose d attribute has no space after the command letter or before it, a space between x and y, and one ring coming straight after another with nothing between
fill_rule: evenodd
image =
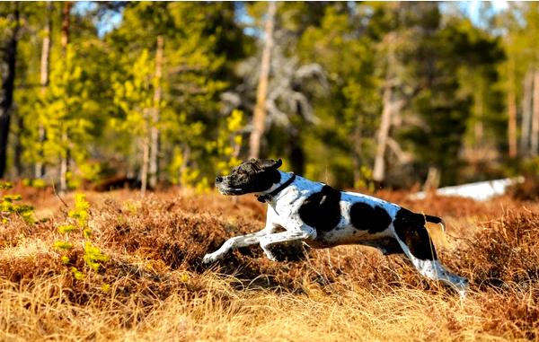
<instances>
[{"instance_id":1,"label":"black and white dog running at full stretch through grass","mask_svg":"<svg viewBox=\"0 0 539 342\"><path fill-rule=\"evenodd\" d=\"M355 192L332 189L293 173L278 171L282 162L252 159L236 166L232 173L216 178L224 195L253 193L268 203L266 226L260 232L236 236L207 254L203 262L223 258L239 247L260 243L269 259L268 246L284 241L305 241L314 248L342 244L375 247L385 255L404 253L421 275L440 280L465 294L467 280L446 270L437 259L425 228L441 218L411 212L401 206ZM276 232L278 228L284 232Z\"/></svg>"}]
</instances>

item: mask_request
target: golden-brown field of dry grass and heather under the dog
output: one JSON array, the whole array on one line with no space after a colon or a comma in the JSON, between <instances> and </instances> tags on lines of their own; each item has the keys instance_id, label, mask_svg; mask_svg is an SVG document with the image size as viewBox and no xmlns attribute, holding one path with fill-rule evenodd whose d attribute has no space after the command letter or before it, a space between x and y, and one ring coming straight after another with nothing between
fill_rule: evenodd
<instances>
[{"instance_id":1,"label":"golden-brown field of dry grass and heather under the dog","mask_svg":"<svg viewBox=\"0 0 539 342\"><path fill-rule=\"evenodd\" d=\"M50 191L11 192L39 221L0 224L3 341L539 339L536 202L376 194L445 218L446 235L434 239L442 262L470 279L461 301L402 256L367 247L295 245L273 262L253 246L201 265L225 239L261 228L264 206L251 196L88 192L91 239L110 259L94 272L75 238L65 265L53 244L68 208ZM65 200L73 206L74 195Z\"/></svg>"}]
</instances>

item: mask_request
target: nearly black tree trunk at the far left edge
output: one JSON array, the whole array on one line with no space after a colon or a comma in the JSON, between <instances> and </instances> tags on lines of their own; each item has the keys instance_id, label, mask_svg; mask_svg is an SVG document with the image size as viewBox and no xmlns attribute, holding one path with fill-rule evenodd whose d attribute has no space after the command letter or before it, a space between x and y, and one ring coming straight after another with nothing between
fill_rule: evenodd
<instances>
[{"instance_id":1,"label":"nearly black tree trunk at the far left edge","mask_svg":"<svg viewBox=\"0 0 539 342\"><path fill-rule=\"evenodd\" d=\"M17 58L17 43L19 39L19 3L14 3L14 20L12 36L4 52L6 71L2 77L0 89L0 178L4 177L7 162L7 138L11 123L11 110L13 106L13 88L15 83L15 61Z\"/></svg>"}]
</instances>

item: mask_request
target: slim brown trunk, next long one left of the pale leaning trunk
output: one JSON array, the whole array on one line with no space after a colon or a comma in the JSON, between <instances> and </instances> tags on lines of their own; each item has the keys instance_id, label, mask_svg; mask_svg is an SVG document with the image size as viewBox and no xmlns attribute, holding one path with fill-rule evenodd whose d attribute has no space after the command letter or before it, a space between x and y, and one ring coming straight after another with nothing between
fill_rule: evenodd
<instances>
[{"instance_id":1,"label":"slim brown trunk, next long one left of the pale leaning trunk","mask_svg":"<svg viewBox=\"0 0 539 342\"><path fill-rule=\"evenodd\" d=\"M155 92L154 110L152 110L152 127L150 134L150 166L149 186L155 189L159 172L159 115L162 96L161 78L163 77L163 36L157 36L157 49L155 51Z\"/></svg>"}]
</instances>

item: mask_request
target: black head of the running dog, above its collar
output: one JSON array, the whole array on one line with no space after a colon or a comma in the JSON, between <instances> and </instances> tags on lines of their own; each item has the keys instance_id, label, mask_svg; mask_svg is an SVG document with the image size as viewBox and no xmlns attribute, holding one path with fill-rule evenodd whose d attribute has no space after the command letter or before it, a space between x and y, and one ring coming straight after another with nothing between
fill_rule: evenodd
<instances>
[{"instance_id":1,"label":"black head of the running dog, above its collar","mask_svg":"<svg viewBox=\"0 0 539 342\"><path fill-rule=\"evenodd\" d=\"M223 195L243 195L269 190L280 181L277 170L282 161L251 159L234 167L228 176L216 177L216 187Z\"/></svg>"}]
</instances>

